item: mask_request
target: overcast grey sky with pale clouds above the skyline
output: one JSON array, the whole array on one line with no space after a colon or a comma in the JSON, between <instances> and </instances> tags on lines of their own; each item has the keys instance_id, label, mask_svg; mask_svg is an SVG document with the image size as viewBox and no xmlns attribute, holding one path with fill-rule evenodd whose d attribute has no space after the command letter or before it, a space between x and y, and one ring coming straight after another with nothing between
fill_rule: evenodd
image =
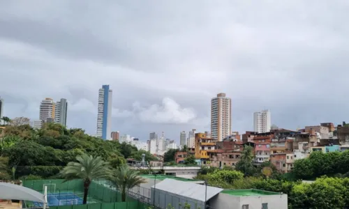
<instances>
[{"instance_id":1,"label":"overcast grey sky with pale clouds above the skyline","mask_svg":"<svg viewBox=\"0 0 349 209\"><path fill-rule=\"evenodd\" d=\"M38 118L66 98L68 127L96 134L98 88L112 130L146 140L209 130L210 102L232 98L232 130L253 112L296 130L349 112L349 1L1 1L4 115Z\"/></svg>"}]
</instances>

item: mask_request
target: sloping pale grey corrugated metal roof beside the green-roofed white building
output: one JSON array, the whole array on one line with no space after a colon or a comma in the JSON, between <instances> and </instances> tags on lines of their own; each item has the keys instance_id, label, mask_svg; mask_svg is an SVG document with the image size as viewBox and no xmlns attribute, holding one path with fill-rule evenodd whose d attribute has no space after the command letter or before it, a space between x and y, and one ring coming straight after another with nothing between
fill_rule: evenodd
<instances>
[{"instance_id":1,"label":"sloping pale grey corrugated metal roof beside the green-roofed white building","mask_svg":"<svg viewBox=\"0 0 349 209\"><path fill-rule=\"evenodd\" d=\"M155 189L205 202L205 187L205 185L166 178L161 183L157 183ZM154 186L152 188L154 188ZM207 186L206 201L222 191L223 189L221 188Z\"/></svg>"}]
</instances>

